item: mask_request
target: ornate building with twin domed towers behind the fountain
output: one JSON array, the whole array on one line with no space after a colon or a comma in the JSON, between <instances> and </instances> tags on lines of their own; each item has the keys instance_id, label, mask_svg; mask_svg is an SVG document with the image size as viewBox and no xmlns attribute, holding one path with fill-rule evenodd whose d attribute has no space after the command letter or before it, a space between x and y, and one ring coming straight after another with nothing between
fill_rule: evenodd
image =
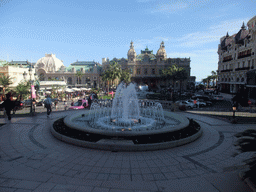
<instances>
[{"instance_id":1,"label":"ornate building with twin domed towers behind the fountain","mask_svg":"<svg viewBox=\"0 0 256 192\"><path fill-rule=\"evenodd\" d=\"M149 50L146 47L145 50L141 50L141 53L137 55L133 42L130 44L130 49L127 53L127 59L114 58L113 61L119 63L122 69L129 69L131 73L132 81L137 84L147 84L150 87L166 87L170 85L170 81L163 80L162 71L171 65L176 64L179 67L183 67L190 77L190 58L167 58L164 42L161 42L160 48L157 53L154 54L153 50ZM102 59L103 69L106 69L110 64L109 59ZM182 83L182 89L187 89L186 82ZM175 82L174 89L179 89L179 82Z\"/></svg>"}]
</instances>

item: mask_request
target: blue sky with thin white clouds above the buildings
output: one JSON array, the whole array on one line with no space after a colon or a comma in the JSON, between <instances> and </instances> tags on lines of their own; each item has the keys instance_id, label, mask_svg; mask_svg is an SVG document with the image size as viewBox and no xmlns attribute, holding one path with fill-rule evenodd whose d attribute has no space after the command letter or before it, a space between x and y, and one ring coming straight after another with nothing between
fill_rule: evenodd
<instances>
[{"instance_id":1,"label":"blue sky with thin white clouds above the buildings","mask_svg":"<svg viewBox=\"0 0 256 192\"><path fill-rule=\"evenodd\" d=\"M0 0L0 59L36 62L54 53L65 66L76 60L154 53L190 57L201 81L218 66L220 38L237 33L256 15L255 0Z\"/></svg>"}]
</instances>

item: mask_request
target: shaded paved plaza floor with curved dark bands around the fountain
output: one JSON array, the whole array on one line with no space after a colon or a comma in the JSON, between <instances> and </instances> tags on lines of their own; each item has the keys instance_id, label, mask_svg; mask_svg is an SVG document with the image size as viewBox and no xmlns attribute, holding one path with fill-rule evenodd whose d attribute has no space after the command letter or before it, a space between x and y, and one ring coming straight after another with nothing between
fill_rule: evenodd
<instances>
[{"instance_id":1,"label":"shaded paved plaza floor with curved dark bands around the fountain","mask_svg":"<svg viewBox=\"0 0 256 192\"><path fill-rule=\"evenodd\" d=\"M0 127L0 191L251 191L238 176L250 154L231 155L233 135L255 125L180 112L201 125L197 141L167 150L111 152L55 139L52 122L71 113L0 119L7 123Z\"/></svg>"}]
</instances>

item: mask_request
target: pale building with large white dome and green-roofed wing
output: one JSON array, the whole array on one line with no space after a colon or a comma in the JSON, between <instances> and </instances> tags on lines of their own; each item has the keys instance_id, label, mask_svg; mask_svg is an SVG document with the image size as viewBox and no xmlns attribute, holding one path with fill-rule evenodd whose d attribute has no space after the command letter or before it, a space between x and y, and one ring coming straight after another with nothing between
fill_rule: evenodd
<instances>
[{"instance_id":1,"label":"pale building with large white dome and green-roofed wing","mask_svg":"<svg viewBox=\"0 0 256 192\"><path fill-rule=\"evenodd\" d=\"M101 65L94 61L76 61L65 67L55 54L45 54L36 62L35 70L40 81L61 80L71 88L97 88L100 83Z\"/></svg>"}]
</instances>

